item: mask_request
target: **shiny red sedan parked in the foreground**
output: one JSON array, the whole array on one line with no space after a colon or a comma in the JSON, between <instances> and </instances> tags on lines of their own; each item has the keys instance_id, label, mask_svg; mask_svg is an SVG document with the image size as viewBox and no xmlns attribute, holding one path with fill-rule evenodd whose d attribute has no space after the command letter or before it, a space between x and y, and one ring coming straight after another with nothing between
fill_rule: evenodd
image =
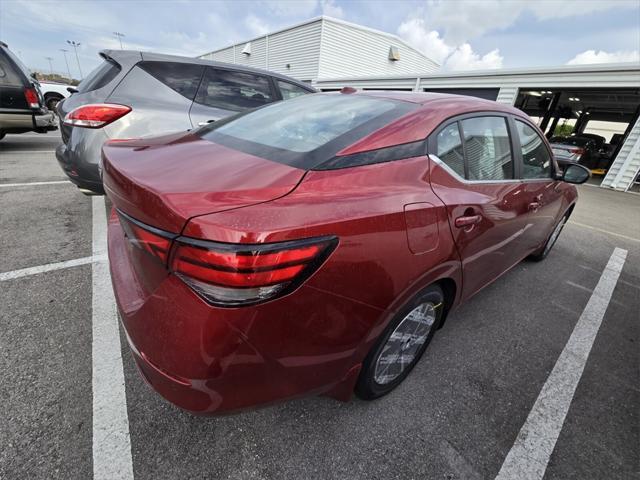
<instances>
[{"instance_id":1,"label":"shiny red sedan parked in the foreground","mask_svg":"<svg viewBox=\"0 0 640 480\"><path fill-rule=\"evenodd\" d=\"M589 176L454 95L307 95L103 149L113 287L142 375L221 413L384 395L447 313L543 259Z\"/></svg>"}]
</instances>

